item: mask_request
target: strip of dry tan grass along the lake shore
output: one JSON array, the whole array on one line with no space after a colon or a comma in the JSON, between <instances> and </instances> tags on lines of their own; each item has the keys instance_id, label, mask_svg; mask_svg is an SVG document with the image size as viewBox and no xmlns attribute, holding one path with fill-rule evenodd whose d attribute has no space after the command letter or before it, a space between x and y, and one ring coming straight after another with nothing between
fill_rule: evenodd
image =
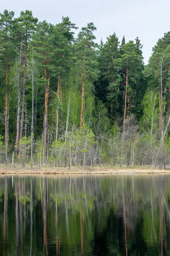
<instances>
[{"instance_id":1,"label":"strip of dry tan grass along the lake shore","mask_svg":"<svg viewBox=\"0 0 170 256\"><path fill-rule=\"evenodd\" d=\"M52 168L52 167L46 167L46 168L37 168L34 167L31 169L31 167L5 167L0 166L0 174L116 174L116 173L144 173L144 174L150 174L150 173L170 173L170 169L155 169L150 168L148 166L133 166L133 167L122 167L119 166L112 166L112 167L71 167L70 169L67 168Z\"/></svg>"}]
</instances>

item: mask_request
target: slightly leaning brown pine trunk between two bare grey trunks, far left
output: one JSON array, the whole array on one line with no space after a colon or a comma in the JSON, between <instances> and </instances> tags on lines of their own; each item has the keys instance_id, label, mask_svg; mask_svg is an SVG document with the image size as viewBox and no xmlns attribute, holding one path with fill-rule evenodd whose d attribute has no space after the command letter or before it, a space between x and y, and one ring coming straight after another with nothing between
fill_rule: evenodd
<instances>
[{"instance_id":1,"label":"slightly leaning brown pine trunk between two bare grey trunks, far left","mask_svg":"<svg viewBox=\"0 0 170 256\"><path fill-rule=\"evenodd\" d=\"M26 69L27 69L27 34L25 44L25 57L24 57L24 77L23 77L23 99L22 99L22 110L21 110L21 126L20 126L20 139L23 137L23 124L24 124L24 110L25 110L25 93L26 93Z\"/></svg>"}]
</instances>

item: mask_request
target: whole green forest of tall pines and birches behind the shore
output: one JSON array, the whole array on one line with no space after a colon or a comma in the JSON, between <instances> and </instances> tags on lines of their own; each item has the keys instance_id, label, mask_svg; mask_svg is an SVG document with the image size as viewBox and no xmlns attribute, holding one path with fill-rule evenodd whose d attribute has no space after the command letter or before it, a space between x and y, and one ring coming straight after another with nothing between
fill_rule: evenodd
<instances>
[{"instance_id":1,"label":"whole green forest of tall pines and birches behind the shore","mask_svg":"<svg viewBox=\"0 0 170 256\"><path fill-rule=\"evenodd\" d=\"M0 165L170 166L170 32L137 37L0 13Z\"/></svg>"}]
</instances>

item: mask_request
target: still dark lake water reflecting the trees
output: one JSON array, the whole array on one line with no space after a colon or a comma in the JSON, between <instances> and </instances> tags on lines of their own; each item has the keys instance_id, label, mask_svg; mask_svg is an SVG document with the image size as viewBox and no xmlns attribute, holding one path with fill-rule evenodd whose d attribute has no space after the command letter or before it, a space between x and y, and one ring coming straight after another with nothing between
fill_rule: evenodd
<instances>
[{"instance_id":1,"label":"still dark lake water reflecting the trees","mask_svg":"<svg viewBox=\"0 0 170 256\"><path fill-rule=\"evenodd\" d=\"M0 177L0 255L170 255L170 175Z\"/></svg>"}]
</instances>

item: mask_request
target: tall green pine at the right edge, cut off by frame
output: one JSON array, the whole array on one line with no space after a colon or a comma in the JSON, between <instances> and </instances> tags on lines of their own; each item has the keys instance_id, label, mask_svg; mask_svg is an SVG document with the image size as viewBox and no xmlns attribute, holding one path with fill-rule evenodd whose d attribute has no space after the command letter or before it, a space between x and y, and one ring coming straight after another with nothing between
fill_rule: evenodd
<instances>
[{"instance_id":1,"label":"tall green pine at the right edge, cut off by frame","mask_svg":"<svg viewBox=\"0 0 170 256\"><path fill-rule=\"evenodd\" d=\"M170 88L169 63L170 32L167 32L153 47L153 54L144 70L148 88L159 93L159 130L161 138L163 138L164 122L170 109L170 96L168 93Z\"/></svg>"}]
</instances>

